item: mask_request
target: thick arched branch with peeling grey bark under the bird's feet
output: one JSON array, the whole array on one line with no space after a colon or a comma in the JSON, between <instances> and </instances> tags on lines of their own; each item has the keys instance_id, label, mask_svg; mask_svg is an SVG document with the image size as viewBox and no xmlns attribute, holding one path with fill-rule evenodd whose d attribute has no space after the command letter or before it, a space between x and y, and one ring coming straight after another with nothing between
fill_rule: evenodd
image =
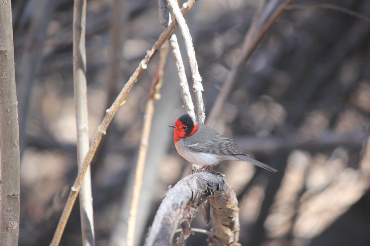
<instances>
[{"instance_id":1,"label":"thick arched branch with peeling grey bark under the bird's feet","mask_svg":"<svg viewBox=\"0 0 370 246\"><path fill-rule=\"evenodd\" d=\"M191 233L189 222L206 199L211 202L214 214L209 245L238 245L239 209L235 193L221 176L200 172L180 180L167 192L155 215L145 246L171 245L179 223L184 239L188 238Z\"/></svg>"}]
</instances>

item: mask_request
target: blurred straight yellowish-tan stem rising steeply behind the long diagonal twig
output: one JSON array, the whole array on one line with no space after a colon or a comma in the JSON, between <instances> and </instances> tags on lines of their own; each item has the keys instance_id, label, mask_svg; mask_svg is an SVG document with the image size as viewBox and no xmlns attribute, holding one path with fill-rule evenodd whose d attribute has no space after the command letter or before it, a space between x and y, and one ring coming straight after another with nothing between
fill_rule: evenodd
<instances>
[{"instance_id":1,"label":"blurred straight yellowish-tan stem rising steeply behind the long diagonal twig","mask_svg":"<svg viewBox=\"0 0 370 246\"><path fill-rule=\"evenodd\" d=\"M127 246L134 245L136 216L139 205L139 197L142 185L142 176L144 172L145 158L147 157L148 152L150 129L154 114L154 101L155 99L160 98L159 88L162 85L163 69L166 63L167 53L168 53L168 44L167 45L164 44L162 45L162 48L159 51L159 61L157 65L157 71L152 82L149 100L147 106L145 107L144 125L141 133L140 149L135 172L135 182L132 191L131 209L128 217L127 244L126 244Z\"/></svg>"}]
</instances>

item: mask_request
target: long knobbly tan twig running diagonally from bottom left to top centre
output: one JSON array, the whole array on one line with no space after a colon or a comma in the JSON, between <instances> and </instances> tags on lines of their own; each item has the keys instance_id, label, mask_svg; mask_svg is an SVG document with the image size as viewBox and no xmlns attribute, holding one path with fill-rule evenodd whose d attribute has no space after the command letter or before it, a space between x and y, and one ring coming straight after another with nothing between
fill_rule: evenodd
<instances>
[{"instance_id":1,"label":"long knobbly tan twig running diagonally from bottom left to top centre","mask_svg":"<svg viewBox=\"0 0 370 246\"><path fill-rule=\"evenodd\" d=\"M185 15L189 11L189 9L193 6L194 3L195 3L195 0L189 0L188 2L186 2L181 8L181 12ZM81 183L83 181L87 168L90 165L92 157L94 157L95 151L98 148L101 138L103 135L105 135L108 125L112 121L113 116L115 115L118 108L121 106L121 104L125 100L132 86L134 86L134 84L137 82L137 80L142 75L142 73L145 71L145 69L147 69L147 66L150 60L153 58L153 56L158 51L158 49L163 45L163 43L169 38L169 36L174 31L175 27L176 27L176 24L172 23L171 25L168 26L168 28L164 30L164 32L162 32L157 42L155 42L152 49L147 52L147 55L145 56L145 58L141 60L135 72L129 78L128 82L125 84L120 94L118 94L118 97L113 102L112 106L106 110L105 117L103 121L101 122L101 124L98 126L98 129L95 132L94 138L92 139L90 149L84 160L84 164L81 167L81 170L78 172L77 178L74 181L74 184L71 188L71 192L68 196L67 203L65 204L63 213L60 217L57 229L55 230L54 237L50 245L52 246L59 245L61 236L65 228L65 224L67 224L68 217L71 213L71 210L76 200L76 197L78 195L78 192L80 191Z\"/></svg>"}]
</instances>

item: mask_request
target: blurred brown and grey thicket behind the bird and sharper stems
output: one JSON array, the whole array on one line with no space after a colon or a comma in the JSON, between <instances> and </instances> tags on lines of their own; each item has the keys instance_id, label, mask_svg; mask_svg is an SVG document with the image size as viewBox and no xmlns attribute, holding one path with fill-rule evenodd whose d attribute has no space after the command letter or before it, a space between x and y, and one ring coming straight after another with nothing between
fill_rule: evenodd
<instances>
[{"instance_id":1,"label":"blurred brown and grey thicket behind the bird and sharper stems","mask_svg":"<svg viewBox=\"0 0 370 246\"><path fill-rule=\"evenodd\" d=\"M280 2L268 1L270 6ZM368 0L318 2L370 16ZM259 4L198 0L185 17L206 113ZM73 1L13 0L12 11L21 139L19 245L49 245L77 176ZM158 2L149 0L88 0L86 25L92 138L163 27ZM370 245L369 44L370 23L361 18L327 8L294 8L277 19L242 69L213 127L279 170L272 174L245 162L217 166L238 196L242 245ZM144 243L168 186L191 173L167 127L185 112L170 53L155 104L137 245ZM97 246L125 245L132 177L157 61L155 56L128 94L91 164ZM191 76L188 80L191 84ZM81 245L79 217L77 200L60 245ZM192 227L210 229L201 214ZM187 245L208 245L206 238L196 233Z\"/></svg>"}]
</instances>

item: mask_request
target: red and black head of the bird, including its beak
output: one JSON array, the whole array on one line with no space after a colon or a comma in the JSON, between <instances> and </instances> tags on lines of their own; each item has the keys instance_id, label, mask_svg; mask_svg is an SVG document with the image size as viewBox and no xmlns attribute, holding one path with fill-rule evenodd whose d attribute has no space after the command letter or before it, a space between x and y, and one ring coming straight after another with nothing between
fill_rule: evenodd
<instances>
[{"instance_id":1,"label":"red and black head of the bird, including its beak","mask_svg":"<svg viewBox=\"0 0 370 246\"><path fill-rule=\"evenodd\" d=\"M196 124L190 115L181 115L175 122L174 125L169 125L174 128L174 140L175 143L182 138L187 138L195 134L198 130L198 124Z\"/></svg>"}]
</instances>

